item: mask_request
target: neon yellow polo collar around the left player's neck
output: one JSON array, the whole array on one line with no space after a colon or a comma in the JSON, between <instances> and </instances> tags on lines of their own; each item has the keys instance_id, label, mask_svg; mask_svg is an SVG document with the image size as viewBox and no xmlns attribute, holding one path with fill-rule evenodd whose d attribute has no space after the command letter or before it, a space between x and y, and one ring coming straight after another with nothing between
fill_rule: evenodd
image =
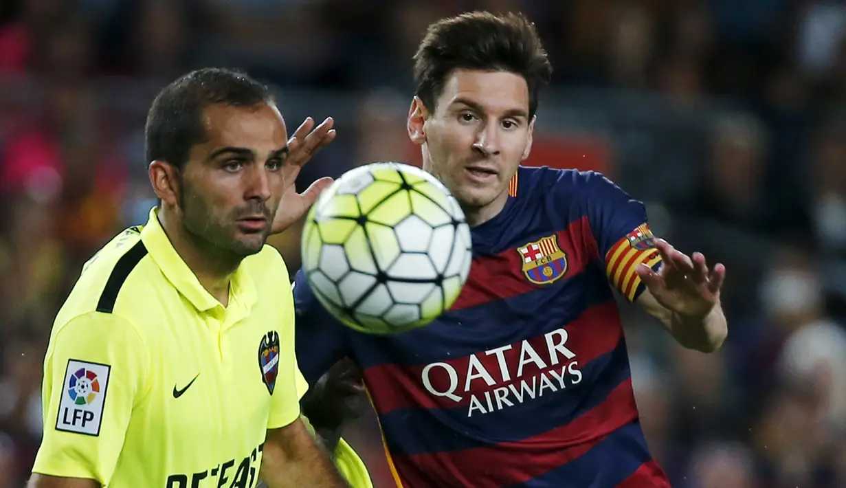
<instances>
[{"instance_id":1,"label":"neon yellow polo collar around the left player's neck","mask_svg":"<svg viewBox=\"0 0 846 488\"><path fill-rule=\"evenodd\" d=\"M207 311L215 307L222 307L222 304L201 285L194 271L191 271L190 267L185 264L176 249L173 249L168 234L164 232L162 224L158 220L157 207L150 211L150 219L141 230L141 240L164 276L197 310ZM242 261L233 275L228 308L232 309L233 305L236 305L242 308L244 313L247 313L255 303L257 295L255 284L245 268L244 261Z\"/></svg>"}]
</instances>

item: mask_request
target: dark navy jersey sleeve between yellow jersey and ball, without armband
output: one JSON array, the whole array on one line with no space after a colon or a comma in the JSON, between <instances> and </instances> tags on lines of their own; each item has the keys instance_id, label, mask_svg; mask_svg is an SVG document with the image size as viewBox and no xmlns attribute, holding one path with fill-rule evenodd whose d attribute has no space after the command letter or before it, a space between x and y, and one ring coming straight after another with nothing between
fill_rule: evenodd
<instances>
[{"instance_id":1,"label":"dark navy jersey sleeve between yellow jersey and ball, without armband","mask_svg":"<svg viewBox=\"0 0 846 488\"><path fill-rule=\"evenodd\" d=\"M293 283L297 310L297 359L308 384L313 385L340 359L349 355L347 327L323 308L302 270Z\"/></svg>"}]
</instances>

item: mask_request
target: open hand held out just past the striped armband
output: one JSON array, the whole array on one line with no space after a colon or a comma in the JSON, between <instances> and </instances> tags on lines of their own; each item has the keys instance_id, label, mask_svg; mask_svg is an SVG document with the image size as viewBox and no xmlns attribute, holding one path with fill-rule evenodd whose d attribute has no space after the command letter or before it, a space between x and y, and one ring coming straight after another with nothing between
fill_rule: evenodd
<instances>
[{"instance_id":1,"label":"open hand held out just past the striped armband","mask_svg":"<svg viewBox=\"0 0 846 488\"><path fill-rule=\"evenodd\" d=\"M655 244L663 264L658 272L638 266L637 273L656 301L684 318L705 318L720 301L726 266L717 264L709 270L705 256L689 257L663 239Z\"/></svg>"}]
</instances>

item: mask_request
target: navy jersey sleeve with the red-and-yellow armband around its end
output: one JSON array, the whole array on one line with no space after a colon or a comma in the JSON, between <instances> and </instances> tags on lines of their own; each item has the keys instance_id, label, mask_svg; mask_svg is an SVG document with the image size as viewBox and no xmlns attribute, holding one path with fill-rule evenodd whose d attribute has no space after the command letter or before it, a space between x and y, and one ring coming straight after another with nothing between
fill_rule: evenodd
<instances>
[{"instance_id":1,"label":"navy jersey sleeve with the red-and-yellow armband around its end","mask_svg":"<svg viewBox=\"0 0 846 488\"><path fill-rule=\"evenodd\" d=\"M661 266L646 208L601 173L586 173L585 187L587 216L608 281L634 302L645 289L637 267Z\"/></svg>"}]
</instances>

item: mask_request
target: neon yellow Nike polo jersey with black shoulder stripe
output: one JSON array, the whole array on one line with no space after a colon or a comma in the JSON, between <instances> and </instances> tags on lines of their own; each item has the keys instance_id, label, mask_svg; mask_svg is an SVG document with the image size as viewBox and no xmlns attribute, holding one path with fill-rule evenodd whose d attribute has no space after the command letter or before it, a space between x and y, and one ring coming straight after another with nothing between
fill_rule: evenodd
<instances>
[{"instance_id":1,"label":"neon yellow Nike polo jersey with black shoulder stripe","mask_svg":"<svg viewBox=\"0 0 846 488\"><path fill-rule=\"evenodd\" d=\"M245 258L224 307L153 209L85 264L44 370L33 472L120 488L255 486L266 430L299 418L285 263L271 246Z\"/></svg>"}]
</instances>

